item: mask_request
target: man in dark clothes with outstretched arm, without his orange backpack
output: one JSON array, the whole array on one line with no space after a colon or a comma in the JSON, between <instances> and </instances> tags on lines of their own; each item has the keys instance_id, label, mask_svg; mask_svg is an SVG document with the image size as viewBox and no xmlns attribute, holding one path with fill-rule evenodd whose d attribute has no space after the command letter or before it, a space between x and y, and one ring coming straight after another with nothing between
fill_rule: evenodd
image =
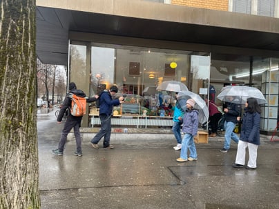
<instances>
[{"instance_id":1,"label":"man in dark clothes with outstretched arm, without his orange backpack","mask_svg":"<svg viewBox=\"0 0 279 209\"><path fill-rule=\"evenodd\" d=\"M82 90L77 90L77 86L74 82L71 82L69 84L69 93L76 94L79 97L86 97L86 94ZM95 95L95 97L90 97L86 99L86 102L90 103L93 101L96 101L98 99L98 95ZM77 142L77 150L74 152L74 155L81 157L82 151L81 151L81 138L80 138L80 132L79 127L81 124L82 116L75 117L70 114L70 106L71 106L72 100L69 97L69 94L67 94L66 98L63 101L62 107L60 109L59 115L57 117L57 123L61 123L61 120L65 114L65 112L68 110L68 117L64 126L64 129L61 132L61 138L59 141L58 149L52 150L52 153L54 155L63 155L64 146L67 140L68 133L72 128L74 128L74 134L75 134L75 141Z\"/></svg>"}]
</instances>

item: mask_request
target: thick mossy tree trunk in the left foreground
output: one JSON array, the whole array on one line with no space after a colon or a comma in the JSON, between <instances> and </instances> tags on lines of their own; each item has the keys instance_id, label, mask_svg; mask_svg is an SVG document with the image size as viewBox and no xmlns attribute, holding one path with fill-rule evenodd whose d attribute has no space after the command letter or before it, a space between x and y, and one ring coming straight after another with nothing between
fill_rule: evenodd
<instances>
[{"instance_id":1,"label":"thick mossy tree trunk in the left foreground","mask_svg":"<svg viewBox=\"0 0 279 209\"><path fill-rule=\"evenodd\" d=\"M0 6L0 208L40 208L35 0Z\"/></svg>"}]
</instances>

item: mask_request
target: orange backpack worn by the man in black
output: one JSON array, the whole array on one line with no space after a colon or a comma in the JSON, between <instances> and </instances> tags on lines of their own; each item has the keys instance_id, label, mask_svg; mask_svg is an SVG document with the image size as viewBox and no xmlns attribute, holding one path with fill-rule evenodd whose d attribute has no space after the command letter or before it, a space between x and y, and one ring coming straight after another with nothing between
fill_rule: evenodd
<instances>
[{"instance_id":1,"label":"orange backpack worn by the man in black","mask_svg":"<svg viewBox=\"0 0 279 209\"><path fill-rule=\"evenodd\" d=\"M87 97L79 97L70 93L69 98L72 99L70 114L75 117L86 115L86 99Z\"/></svg>"}]
</instances>

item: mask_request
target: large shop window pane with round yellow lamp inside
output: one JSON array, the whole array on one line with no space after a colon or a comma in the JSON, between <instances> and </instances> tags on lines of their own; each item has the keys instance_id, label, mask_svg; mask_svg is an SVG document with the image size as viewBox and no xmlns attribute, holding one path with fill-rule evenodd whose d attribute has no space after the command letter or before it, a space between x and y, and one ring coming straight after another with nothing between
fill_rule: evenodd
<instances>
[{"instance_id":1,"label":"large shop window pane with round yellow lamp inside","mask_svg":"<svg viewBox=\"0 0 279 209\"><path fill-rule=\"evenodd\" d=\"M117 85L125 104L114 115L172 116L175 92L157 91L163 81L181 81L187 86L192 52L128 46L91 48L90 95ZM172 63L172 64L171 64Z\"/></svg>"}]
</instances>

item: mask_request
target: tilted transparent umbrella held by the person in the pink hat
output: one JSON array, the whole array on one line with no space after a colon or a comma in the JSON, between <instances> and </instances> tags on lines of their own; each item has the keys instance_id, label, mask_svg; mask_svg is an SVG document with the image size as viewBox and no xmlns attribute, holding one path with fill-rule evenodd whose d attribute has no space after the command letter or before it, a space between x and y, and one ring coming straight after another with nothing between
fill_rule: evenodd
<instances>
[{"instance_id":1,"label":"tilted transparent umbrella held by the person in the pink hat","mask_svg":"<svg viewBox=\"0 0 279 209\"><path fill-rule=\"evenodd\" d=\"M198 120L200 123L205 123L209 119L209 109L205 101L198 94L190 91L181 91L177 94L177 101L179 102L182 110L186 110L186 101L193 99L195 101L194 108L199 111Z\"/></svg>"}]
</instances>

